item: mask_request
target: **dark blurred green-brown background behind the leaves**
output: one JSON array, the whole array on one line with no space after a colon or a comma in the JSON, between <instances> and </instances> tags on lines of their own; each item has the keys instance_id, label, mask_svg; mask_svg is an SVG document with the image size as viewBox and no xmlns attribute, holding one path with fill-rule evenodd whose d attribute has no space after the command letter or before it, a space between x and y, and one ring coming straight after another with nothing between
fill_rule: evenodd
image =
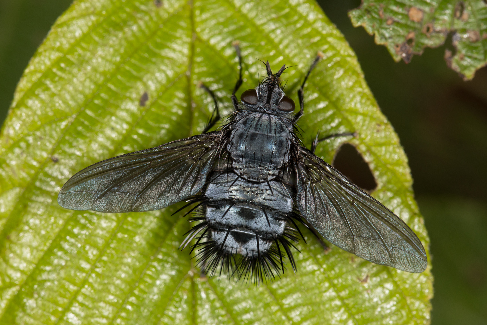
<instances>
[{"instance_id":1,"label":"dark blurred green-brown background behind the leaves","mask_svg":"<svg viewBox=\"0 0 487 325\"><path fill-rule=\"evenodd\" d=\"M365 78L409 157L431 237L432 324L487 324L487 68L463 81L445 49L395 63L347 11L359 0L318 1L355 50ZM71 0L0 0L0 123L30 57Z\"/></svg>"}]
</instances>

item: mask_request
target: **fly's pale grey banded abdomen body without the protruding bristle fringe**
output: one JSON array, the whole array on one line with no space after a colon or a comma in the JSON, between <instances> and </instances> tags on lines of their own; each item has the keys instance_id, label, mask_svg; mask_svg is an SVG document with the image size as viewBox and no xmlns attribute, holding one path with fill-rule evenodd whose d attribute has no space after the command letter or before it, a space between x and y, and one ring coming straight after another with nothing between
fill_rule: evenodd
<instances>
[{"instance_id":1,"label":"fly's pale grey banded abdomen body without the protruding bristle fringe","mask_svg":"<svg viewBox=\"0 0 487 325\"><path fill-rule=\"evenodd\" d=\"M289 191L274 181L248 183L232 172L216 177L205 193L212 239L228 253L265 253L285 230L285 214L293 209Z\"/></svg>"}]
</instances>

